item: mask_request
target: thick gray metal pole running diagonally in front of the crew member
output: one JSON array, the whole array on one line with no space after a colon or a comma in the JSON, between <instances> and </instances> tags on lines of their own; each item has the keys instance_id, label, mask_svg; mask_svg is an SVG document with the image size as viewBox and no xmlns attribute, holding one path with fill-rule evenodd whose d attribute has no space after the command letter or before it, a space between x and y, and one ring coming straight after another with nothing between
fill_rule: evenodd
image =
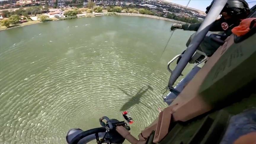
<instances>
[{"instance_id":1,"label":"thick gray metal pole running diagonally in front of the crew member","mask_svg":"<svg viewBox=\"0 0 256 144\"><path fill-rule=\"evenodd\" d=\"M175 69L172 71L172 75L169 78L168 87L171 89L175 81L178 79L180 74L182 73L183 69L188 64L188 61L196 51L197 47L201 43L201 41L204 39L205 35L209 31L209 28L211 27L212 23L216 20L218 15L220 14L221 10L225 6L228 0L215 0L209 13L205 17L203 23L199 27L198 31L196 32L196 35L192 39L191 43L189 44L187 50L182 55L179 63L175 67Z\"/></svg>"}]
</instances>

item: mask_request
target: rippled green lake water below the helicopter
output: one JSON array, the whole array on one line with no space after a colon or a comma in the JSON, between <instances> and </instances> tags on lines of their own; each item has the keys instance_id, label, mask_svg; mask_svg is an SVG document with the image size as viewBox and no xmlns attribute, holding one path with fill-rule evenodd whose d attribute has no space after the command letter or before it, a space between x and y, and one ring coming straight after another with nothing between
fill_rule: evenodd
<instances>
[{"instance_id":1,"label":"rippled green lake water below the helicopter","mask_svg":"<svg viewBox=\"0 0 256 144\"><path fill-rule=\"evenodd\" d=\"M69 129L123 120L124 110L137 136L166 107L166 63L193 33L175 31L160 59L171 24L99 16L1 31L0 143L65 143Z\"/></svg>"}]
</instances>

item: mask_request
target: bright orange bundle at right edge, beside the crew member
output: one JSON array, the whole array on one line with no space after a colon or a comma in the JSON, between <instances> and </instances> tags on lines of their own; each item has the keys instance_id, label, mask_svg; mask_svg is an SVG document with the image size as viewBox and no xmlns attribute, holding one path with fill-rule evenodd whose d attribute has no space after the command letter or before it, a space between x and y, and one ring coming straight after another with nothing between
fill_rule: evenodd
<instances>
[{"instance_id":1,"label":"bright orange bundle at right edge, beside the crew member","mask_svg":"<svg viewBox=\"0 0 256 144\"><path fill-rule=\"evenodd\" d=\"M250 31L252 27L256 26L256 18L247 18L240 22L240 24L234 27L231 31L237 36L243 36Z\"/></svg>"}]
</instances>

